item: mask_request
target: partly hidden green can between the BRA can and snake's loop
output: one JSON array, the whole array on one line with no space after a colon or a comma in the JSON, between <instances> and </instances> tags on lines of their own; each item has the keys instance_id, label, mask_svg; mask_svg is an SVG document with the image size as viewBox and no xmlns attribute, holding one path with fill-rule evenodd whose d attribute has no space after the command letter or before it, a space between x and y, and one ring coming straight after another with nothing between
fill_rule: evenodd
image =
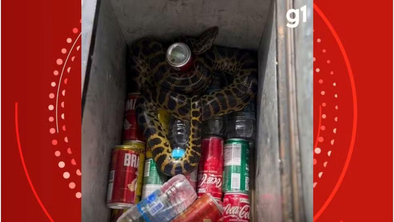
<instances>
[{"instance_id":1,"label":"partly hidden green can between the BRA can and snake's loop","mask_svg":"<svg viewBox=\"0 0 394 222\"><path fill-rule=\"evenodd\" d=\"M160 188L168 180L168 177L157 169L149 147L146 149L146 156L141 199L149 196L149 194Z\"/></svg>"}]
</instances>

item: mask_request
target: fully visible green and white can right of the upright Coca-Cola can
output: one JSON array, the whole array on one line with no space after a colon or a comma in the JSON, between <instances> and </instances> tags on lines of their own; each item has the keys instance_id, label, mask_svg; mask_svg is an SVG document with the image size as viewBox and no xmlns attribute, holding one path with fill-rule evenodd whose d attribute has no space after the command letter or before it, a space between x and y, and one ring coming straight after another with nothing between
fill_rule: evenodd
<instances>
[{"instance_id":1,"label":"fully visible green and white can right of the upright Coca-Cola can","mask_svg":"<svg viewBox=\"0 0 394 222\"><path fill-rule=\"evenodd\" d=\"M228 139L224 146L223 192L249 193L249 142Z\"/></svg>"}]
</instances>

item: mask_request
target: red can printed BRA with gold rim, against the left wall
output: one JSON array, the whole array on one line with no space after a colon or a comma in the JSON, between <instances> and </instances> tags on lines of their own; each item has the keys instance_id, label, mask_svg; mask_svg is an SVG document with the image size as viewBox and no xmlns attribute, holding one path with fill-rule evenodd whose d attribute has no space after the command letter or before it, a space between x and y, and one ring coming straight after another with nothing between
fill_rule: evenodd
<instances>
[{"instance_id":1,"label":"red can printed BRA with gold rim, against the left wall","mask_svg":"<svg viewBox=\"0 0 394 222\"><path fill-rule=\"evenodd\" d=\"M111 170L108 179L107 206L127 209L138 201L137 181L139 149L121 145L112 150Z\"/></svg>"}]
</instances>

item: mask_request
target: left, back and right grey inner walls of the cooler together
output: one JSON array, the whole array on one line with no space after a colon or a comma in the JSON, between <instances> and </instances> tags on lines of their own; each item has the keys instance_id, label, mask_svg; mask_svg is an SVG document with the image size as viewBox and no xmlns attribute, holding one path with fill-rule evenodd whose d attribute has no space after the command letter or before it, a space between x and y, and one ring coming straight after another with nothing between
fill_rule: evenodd
<instances>
[{"instance_id":1,"label":"left, back and right grey inner walls of the cooler together","mask_svg":"<svg viewBox=\"0 0 394 222\"><path fill-rule=\"evenodd\" d=\"M106 222L110 217L105 205L108 167L111 148L121 143L127 44L149 35L198 34L214 25L219 26L217 44L258 51L251 221L281 221L274 4L270 0L101 0L97 8L82 98L82 221Z\"/></svg>"}]
</instances>

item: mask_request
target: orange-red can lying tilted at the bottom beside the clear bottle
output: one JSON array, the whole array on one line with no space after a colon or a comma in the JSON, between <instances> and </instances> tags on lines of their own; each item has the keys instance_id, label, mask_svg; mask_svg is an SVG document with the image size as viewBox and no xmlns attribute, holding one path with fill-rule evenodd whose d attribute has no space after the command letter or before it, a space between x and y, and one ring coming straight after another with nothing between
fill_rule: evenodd
<instances>
[{"instance_id":1,"label":"orange-red can lying tilted at the bottom beside the clear bottle","mask_svg":"<svg viewBox=\"0 0 394 222\"><path fill-rule=\"evenodd\" d=\"M223 209L210 194L204 194L171 222L207 222L219 221Z\"/></svg>"}]
</instances>

